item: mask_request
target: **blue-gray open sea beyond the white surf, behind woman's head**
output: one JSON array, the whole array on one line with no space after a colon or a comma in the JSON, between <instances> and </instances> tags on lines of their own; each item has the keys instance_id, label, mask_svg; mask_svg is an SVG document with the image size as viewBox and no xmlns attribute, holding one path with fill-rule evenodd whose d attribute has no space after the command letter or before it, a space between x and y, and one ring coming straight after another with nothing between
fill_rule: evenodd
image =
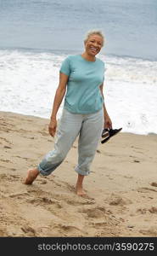
<instances>
[{"instance_id":1,"label":"blue-gray open sea beyond the white surf, behind woman's head","mask_svg":"<svg viewBox=\"0 0 157 256\"><path fill-rule=\"evenodd\" d=\"M104 31L104 52L157 60L156 0L0 0L0 47L81 50Z\"/></svg>"}]
</instances>

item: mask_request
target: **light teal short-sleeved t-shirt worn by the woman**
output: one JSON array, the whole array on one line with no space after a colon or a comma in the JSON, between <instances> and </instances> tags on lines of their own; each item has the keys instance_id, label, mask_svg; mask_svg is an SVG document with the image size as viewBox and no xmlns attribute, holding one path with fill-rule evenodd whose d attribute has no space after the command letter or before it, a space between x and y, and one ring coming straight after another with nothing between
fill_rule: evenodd
<instances>
[{"instance_id":1,"label":"light teal short-sleeved t-shirt worn by the woman","mask_svg":"<svg viewBox=\"0 0 157 256\"><path fill-rule=\"evenodd\" d=\"M60 72L69 76L64 108L71 113L95 113L103 108L99 86L104 82L104 62L87 61L81 55L69 55Z\"/></svg>"}]
</instances>

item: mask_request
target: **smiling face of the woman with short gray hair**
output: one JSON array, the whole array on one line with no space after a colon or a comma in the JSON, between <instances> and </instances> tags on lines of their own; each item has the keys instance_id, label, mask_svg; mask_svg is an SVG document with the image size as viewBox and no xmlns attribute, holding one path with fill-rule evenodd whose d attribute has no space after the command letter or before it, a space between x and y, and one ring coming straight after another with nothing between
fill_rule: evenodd
<instances>
[{"instance_id":1,"label":"smiling face of the woman with short gray hair","mask_svg":"<svg viewBox=\"0 0 157 256\"><path fill-rule=\"evenodd\" d=\"M97 55L103 47L103 38L99 35L91 35L85 43L85 49L88 55Z\"/></svg>"}]
</instances>

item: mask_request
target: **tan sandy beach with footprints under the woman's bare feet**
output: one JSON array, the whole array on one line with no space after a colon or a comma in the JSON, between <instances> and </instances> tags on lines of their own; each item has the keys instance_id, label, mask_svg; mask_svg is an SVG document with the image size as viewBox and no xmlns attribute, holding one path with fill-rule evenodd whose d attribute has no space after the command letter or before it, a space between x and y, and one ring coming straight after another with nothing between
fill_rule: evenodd
<instances>
[{"instance_id":1,"label":"tan sandy beach with footprints under the woman's bare feet","mask_svg":"<svg viewBox=\"0 0 157 256\"><path fill-rule=\"evenodd\" d=\"M0 236L157 236L156 135L100 143L88 198L74 189L77 142L52 175L22 183L53 143L48 119L0 113Z\"/></svg>"}]
</instances>

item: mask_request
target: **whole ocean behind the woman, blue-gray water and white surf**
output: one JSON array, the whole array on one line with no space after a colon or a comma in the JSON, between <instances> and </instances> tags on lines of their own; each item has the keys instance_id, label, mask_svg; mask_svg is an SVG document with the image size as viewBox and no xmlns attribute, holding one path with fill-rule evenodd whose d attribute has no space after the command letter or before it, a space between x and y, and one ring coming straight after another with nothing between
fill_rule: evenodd
<instances>
[{"instance_id":1,"label":"whole ocean behind the woman, blue-gray water and white surf","mask_svg":"<svg viewBox=\"0 0 157 256\"><path fill-rule=\"evenodd\" d=\"M156 0L0 0L0 110L49 118L61 62L93 28L114 128L157 133Z\"/></svg>"}]
</instances>

